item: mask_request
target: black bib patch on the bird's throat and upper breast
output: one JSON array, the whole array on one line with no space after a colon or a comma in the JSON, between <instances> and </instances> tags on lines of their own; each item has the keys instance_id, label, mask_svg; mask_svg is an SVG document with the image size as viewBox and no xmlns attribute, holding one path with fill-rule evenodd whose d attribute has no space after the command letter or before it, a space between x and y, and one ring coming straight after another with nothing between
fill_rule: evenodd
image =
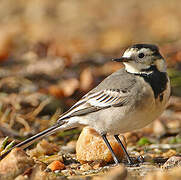
<instances>
[{"instance_id":1,"label":"black bib patch on the bird's throat and upper breast","mask_svg":"<svg viewBox=\"0 0 181 180\"><path fill-rule=\"evenodd\" d=\"M160 96L161 100L161 97L163 97L162 93L166 89L168 82L167 74L165 72L160 72L156 67L152 67L152 72L150 74L135 73L135 75L143 77L144 80L152 87L155 99Z\"/></svg>"}]
</instances>

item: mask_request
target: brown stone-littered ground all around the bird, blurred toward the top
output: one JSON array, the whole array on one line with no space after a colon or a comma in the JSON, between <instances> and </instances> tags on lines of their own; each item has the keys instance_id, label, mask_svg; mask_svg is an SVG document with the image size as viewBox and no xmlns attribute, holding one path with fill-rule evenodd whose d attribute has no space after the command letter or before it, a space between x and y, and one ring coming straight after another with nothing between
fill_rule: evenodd
<instances>
[{"instance_id":1,"label":"brown stone-littered ground all around the bird, blurred toward the top","mask_svg":"<svg viewBox=\"0 0 181 180\"><path fill-rule=\"evenodd\" d=\"M122 162L115 166L100 138L91 130L83 134L80 127L25 151L13 150L0 161L0 179L180 179L180 6L177 0L1 1L1 152L13 140L18 143L53 125L91 88L122 68L111 58L135 42L159 45L172 96L154 123L124 134L131 157L144 158L138 166L129 167L112 140ZM85 148L78 149L81 132L82 139L93 138L97 144L79 139L77 147Z\"/></svg>"}]
</instances>

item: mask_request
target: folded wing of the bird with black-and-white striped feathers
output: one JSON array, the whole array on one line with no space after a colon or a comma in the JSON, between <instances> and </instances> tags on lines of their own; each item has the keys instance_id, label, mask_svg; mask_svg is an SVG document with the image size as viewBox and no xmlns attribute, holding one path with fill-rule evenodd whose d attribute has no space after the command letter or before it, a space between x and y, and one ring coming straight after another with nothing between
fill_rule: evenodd
<instances>
[{"instance_id":1,"label":"folded wing of the bird with black-and-white striped feathers","mask_svg":"<svg viewBox=\"0 0 181 180\"><path fill-rule=\"evenodd\" d=\"M67 112L62 114L58 121L73 116L82 116L87 113L109 108L111 106L123 106L127 102L128 97L128 93L119 92L114 89L106 89L90 94L88 93L76 104L74 104Z\"/></svg>"}]
</instances>

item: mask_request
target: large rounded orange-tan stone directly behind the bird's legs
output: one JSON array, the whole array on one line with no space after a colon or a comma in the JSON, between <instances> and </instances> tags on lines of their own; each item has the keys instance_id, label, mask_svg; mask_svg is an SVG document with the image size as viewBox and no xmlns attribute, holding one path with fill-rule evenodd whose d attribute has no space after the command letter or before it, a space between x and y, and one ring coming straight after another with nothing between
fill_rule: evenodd
<instances>
[{"instance_id":1,"label":"large rounded orange-tan stone directly behind the bird's legs","mask_svg":"<svg viewBox=\"0 0 181 180\"><path fill-rule=\"evenodd\" d=\"M123 136L119 136L122 143L126 147L126 142ZM115 154L121 160L124 156L121 146L117 143L114 136L107 136ZM97 162L113 162L111 152L107 148L102 137L93 129L85 127L77 141L76 156L80 163L92 161Z\"/></svg>"}]
</instances>

